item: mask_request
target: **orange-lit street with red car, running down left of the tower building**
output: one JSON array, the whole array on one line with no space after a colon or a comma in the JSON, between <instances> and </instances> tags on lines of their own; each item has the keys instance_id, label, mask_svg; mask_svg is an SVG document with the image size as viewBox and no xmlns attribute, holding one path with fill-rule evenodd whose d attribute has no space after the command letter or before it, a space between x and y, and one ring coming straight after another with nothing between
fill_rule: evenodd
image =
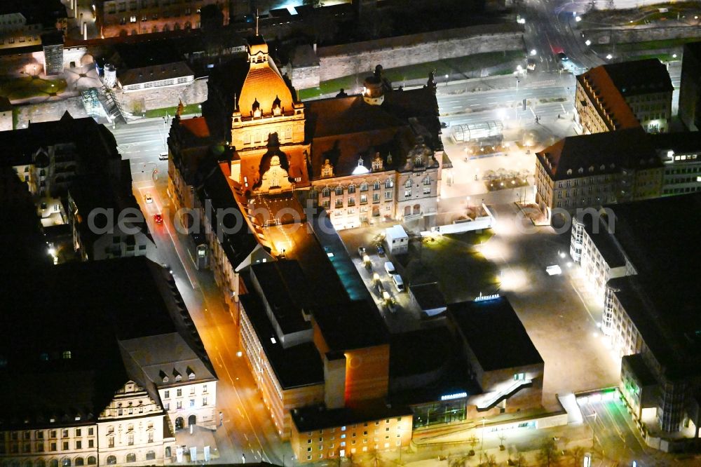
<instances>
[{"instance_id":1,"label":"orange-lit street with red car, running down left of the tower building","mask_svg":"<svg viewBox=\"0 0 701 467\"><path fill-rule=\"evenodd\" d=\"M210 271L194 267L186 248L187 238L173 224L175 208L166 194L168 161L158 159L168 126L162 121L149 121L108 128L114 133L123 158L130 161L133 191L158 248L157 260L172 269L219 377L217 410L222 411L223 425L217 429L215 439L220 461L238 463L245 455L248 462L279 464L285 456L289 463L289 444L280 442L245 358L238 355L238 328L224 308L222 292ZM153 203L144 201L146 194L153 197ZM154 222L155 214L163 215L163 224Z\"/></svg>"}]
</instances>

